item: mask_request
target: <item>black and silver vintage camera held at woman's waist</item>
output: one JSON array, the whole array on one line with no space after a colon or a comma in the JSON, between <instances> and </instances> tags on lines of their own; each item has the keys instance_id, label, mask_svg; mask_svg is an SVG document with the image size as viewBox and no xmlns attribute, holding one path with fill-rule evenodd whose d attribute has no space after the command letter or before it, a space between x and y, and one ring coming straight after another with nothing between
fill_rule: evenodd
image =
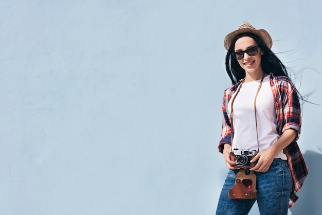
<instances>
[{"instance_id":1,"label":"black and silver vintage camera held at woman's waist","mask_svg":"<svg viewBox=\"0 0 322 215\"><path fill-rule=\"evenodd\" d=\"M256 150L234 149L230 154L230 160L236 162L237 167L252 168L255 163L251 163L251 160L256 154Z\"/></svg>"}]
</instances>

